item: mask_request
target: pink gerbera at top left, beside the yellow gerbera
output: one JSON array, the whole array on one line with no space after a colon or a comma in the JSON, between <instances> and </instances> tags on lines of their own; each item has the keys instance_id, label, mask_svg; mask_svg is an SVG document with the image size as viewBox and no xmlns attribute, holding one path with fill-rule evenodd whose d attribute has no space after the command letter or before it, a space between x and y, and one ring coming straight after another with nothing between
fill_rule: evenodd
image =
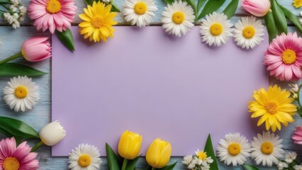
<instances>
[{"instance_id":1,"label":"pink gerbera at top left, beside the yellow gerbera","mask_svg":"<svg viewBox=\"0 0 302 170\"><path fill-rule=\"evenodd\" d=\"M28 6L28 15L35 20L37 30L55 29L62 32L71 26L77 7L74 0L32 0Z\"/></svg>"}]
</instances>

